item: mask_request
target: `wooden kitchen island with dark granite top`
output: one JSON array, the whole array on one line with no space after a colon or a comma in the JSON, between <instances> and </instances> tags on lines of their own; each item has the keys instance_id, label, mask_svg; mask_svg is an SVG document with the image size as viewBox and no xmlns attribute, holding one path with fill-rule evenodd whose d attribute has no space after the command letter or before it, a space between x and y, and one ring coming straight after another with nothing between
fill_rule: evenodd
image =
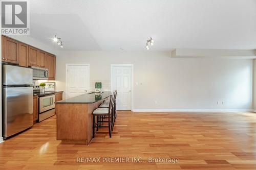
<instances>
[{"instance_id":1,"label":"wooden kitchen island with dark granite top","mask_svg":"<svg viewBox=\"0 0 256 170\"><path fill-rule=\"evenodd\" d=\"M62 144L89 144L93 137L93 111L111 92L87 93L55 102L57 140Z\"/></svg>"}]
</instances>

